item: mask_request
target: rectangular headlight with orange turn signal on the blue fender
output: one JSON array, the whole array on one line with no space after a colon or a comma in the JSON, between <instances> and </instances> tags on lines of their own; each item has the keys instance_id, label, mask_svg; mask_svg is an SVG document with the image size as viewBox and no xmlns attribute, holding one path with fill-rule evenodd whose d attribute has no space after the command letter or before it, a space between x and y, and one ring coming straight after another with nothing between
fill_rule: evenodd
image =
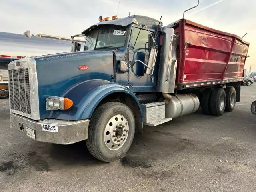
<instances>
[{"instance_id":1,"label":"rectangular headlight with orange turn signal on the blue fender","mask_svg":"<svg viewBox=\"0 0 256 192\"><path fill-rule=\"evenodd\" d=\"M46 110L65 110L73 105L73 101L65 97L50 96L46 100Z\"/></svg>"}]
</instances>

